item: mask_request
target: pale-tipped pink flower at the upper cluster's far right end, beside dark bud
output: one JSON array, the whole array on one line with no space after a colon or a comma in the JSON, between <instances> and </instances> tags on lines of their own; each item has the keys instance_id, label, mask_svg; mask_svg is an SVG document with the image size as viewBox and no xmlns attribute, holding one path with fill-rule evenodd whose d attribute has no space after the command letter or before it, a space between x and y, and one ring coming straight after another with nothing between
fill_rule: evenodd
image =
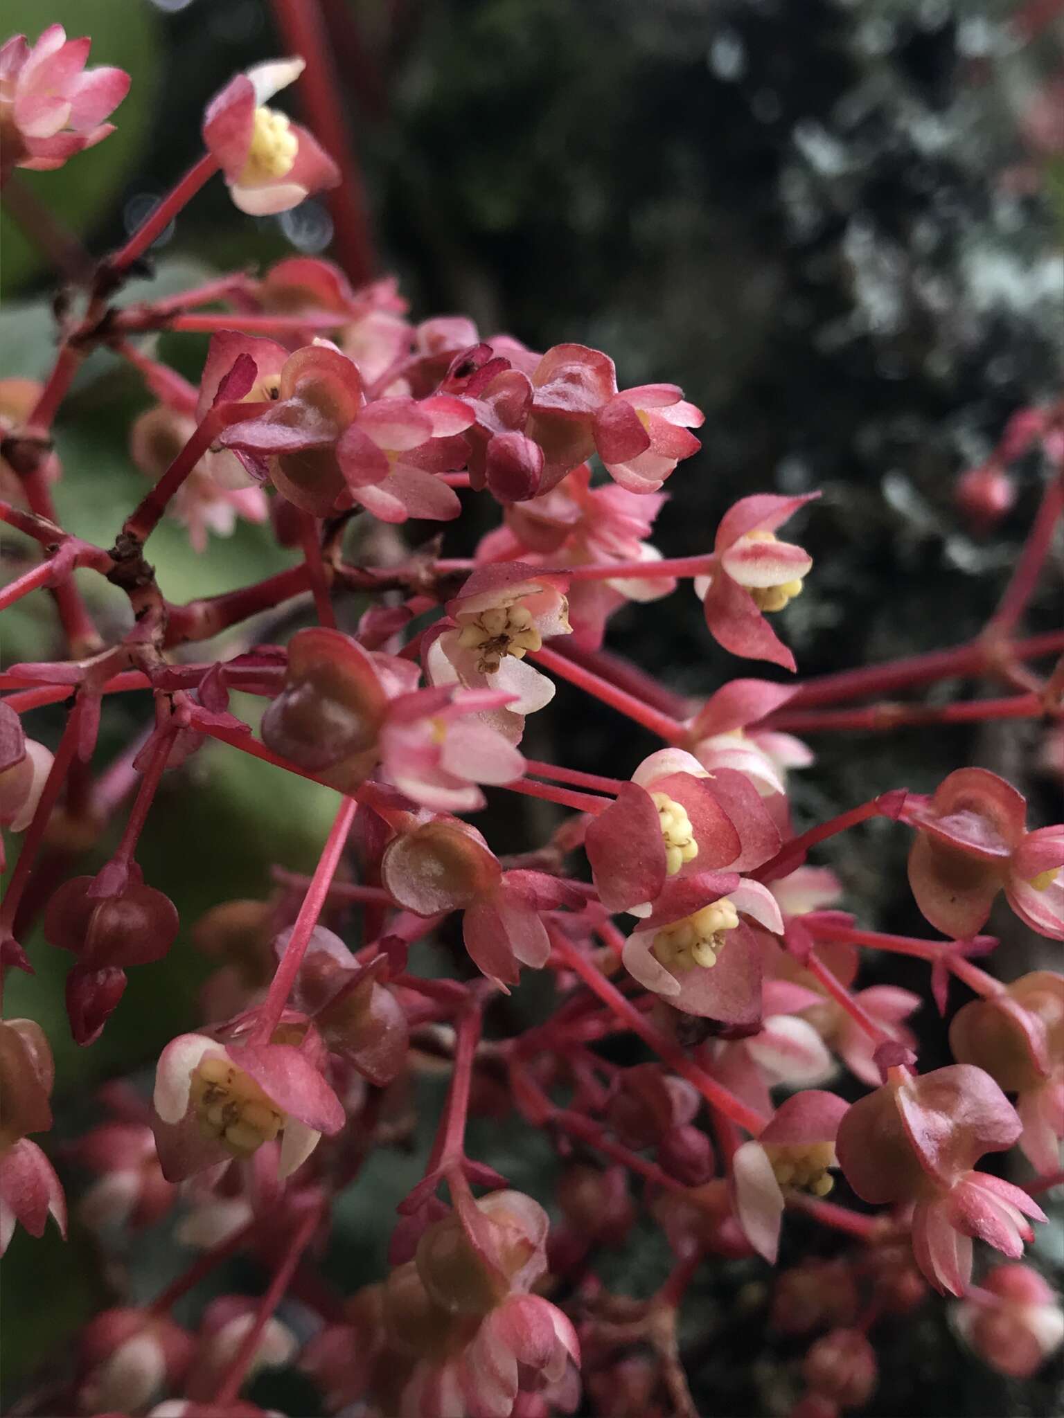
<instances>
[{"instance_id":1,"label":"pale-tipped pink flower at the upper cluster's far right end, beside dark bud","mask_svg":"<svg viewBox=\"0 0 1064 1418\"><path fill-rule=\"evenodd\" d=\"M681 458L702 447L688 428L705 414L675 384L640 384L614 394L594 415L594 447L628 492L657 492Z\"/></svg>"}]
</instances>

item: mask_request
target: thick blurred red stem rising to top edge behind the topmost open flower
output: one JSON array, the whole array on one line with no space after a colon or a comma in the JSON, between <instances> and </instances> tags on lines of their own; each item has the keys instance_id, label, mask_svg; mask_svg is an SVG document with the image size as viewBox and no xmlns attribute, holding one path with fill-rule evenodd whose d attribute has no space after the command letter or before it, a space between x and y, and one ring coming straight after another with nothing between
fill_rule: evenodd
<instances>
[{"instance_id":1,"label":"thick blurred red stem rising to top edge behind the topmost open flower","mask_svg":"<svg viewBox=\"0 0 1064 1418\"><path fill-rule=\"evenodd\" d=\"M272 0L277 27L289 54L301 54L306 68L299 79L302 102L315 136L340 170L340 183L328 193L336 234L336 254L355 285L373 277L376 257L362 172L343 118L336 72L318 0Z\"/></svg>"}]
</instances>

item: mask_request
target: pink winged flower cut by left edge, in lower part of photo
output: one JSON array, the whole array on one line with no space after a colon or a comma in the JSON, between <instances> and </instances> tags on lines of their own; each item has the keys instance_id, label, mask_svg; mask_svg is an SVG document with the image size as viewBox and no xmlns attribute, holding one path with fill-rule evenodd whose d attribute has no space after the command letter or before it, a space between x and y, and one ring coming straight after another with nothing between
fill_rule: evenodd
<instances>
[{"instance_id":1,"label":"pink winged flower cut by left edge, in lower part of photo","mask_svg":"<svg viewBox=\"0 0 1064 1418\"><path fill-rule=\"evenodd\" d=\"M0 1021L0 1255L17 1222L44 1235L52 1217L67 1235L67 1200L55 1168L27 1133L51 1127L48 1098L55 1081L51 1048L33 1020Z\"/></svg>"}]
</instances>

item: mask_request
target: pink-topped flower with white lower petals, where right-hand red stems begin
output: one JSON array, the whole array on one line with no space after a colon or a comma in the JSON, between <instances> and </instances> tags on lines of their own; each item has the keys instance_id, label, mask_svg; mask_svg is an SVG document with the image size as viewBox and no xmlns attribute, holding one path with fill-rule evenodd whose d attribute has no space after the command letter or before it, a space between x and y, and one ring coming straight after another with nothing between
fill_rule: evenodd
<instances>
[{"instance_id":1,"label":"pink-topped flower with white lower petals, where right-hand red stems begin","mask_svg":"<svg viewBox=\"0 0 1064 1418\"><path fill-rule=\"evenodd\" d=\"M813 754L790 733L750 729L796 691L767 679L732 679L702 705L688 725L691 752L709 773L736 769L762 797L786 793L786 770L806 769Z\"/></svg>"}]
</instances>

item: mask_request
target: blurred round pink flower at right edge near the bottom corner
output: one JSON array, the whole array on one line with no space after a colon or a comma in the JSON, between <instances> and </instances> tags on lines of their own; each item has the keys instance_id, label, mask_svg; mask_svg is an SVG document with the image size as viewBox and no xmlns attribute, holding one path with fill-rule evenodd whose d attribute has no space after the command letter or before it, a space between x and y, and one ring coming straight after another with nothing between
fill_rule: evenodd
<instances>
[{"instance_id":1,"label":"blurred round pink flower at right edge near the bottom corner","mask_svg":"<svg viewBox=\"0 0 1064 1418\"><path fill-rule=\"evenodd\" d=\"M953 1309L953 1323L985 1364L1030 1378L1064 1344L1060 1296L1029 1265L997 1265Z\"/></svg>"}]
</instances>

